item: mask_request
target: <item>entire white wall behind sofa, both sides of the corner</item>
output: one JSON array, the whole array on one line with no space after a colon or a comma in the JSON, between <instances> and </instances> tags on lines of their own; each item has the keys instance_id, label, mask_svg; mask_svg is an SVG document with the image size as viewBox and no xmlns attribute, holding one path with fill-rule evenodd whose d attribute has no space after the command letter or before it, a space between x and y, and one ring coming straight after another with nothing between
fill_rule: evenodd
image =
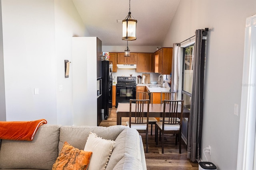
<instances>
[{"instance_id":1,"label":"entire white wall behind sofa, both sides of the corner","mask_svg":"<svg viewBox=\"0 0 256 170\"><path fill-rule=\"evenodd\" d=\"M6 120L72 125L72 69L64 79L64 59L72 61L72 36L86 32L72 1L2 0L2 25Z\"/></svg>"}]
</instances>

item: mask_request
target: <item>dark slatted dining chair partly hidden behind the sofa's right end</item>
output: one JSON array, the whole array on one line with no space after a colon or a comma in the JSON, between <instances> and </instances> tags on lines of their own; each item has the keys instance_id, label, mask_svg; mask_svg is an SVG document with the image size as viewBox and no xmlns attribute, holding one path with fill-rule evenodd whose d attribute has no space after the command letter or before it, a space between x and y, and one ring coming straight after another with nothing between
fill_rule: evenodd
<instances>
[{"instance_id":1,"label":"dark slatted dining chair partly hidden behind the sofa's right end","mask_svg":"<svg viewBox=\"0 0 256 170\"><path fill-rule=\"evenodd\" d=\"M134 115L132 115L134 113ZM126 124L139 133L146 133L146 153L148 153L148 100L132 100L130 99L129 121Z\"/></svg>"}]
</instances>

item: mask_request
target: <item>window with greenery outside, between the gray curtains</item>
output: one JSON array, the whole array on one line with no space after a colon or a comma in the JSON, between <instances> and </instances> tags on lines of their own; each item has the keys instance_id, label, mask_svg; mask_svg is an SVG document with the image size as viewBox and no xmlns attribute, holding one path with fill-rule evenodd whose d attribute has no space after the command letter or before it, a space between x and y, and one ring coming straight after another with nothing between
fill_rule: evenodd
<instances>
[{"instance_id":1,"label":"window with greenery outside, between the gray curtains","mask_svg":"<svg viewBox=\"0 0 256 170\"><path fill-rule=\"evenodd\" d=\"M192 82L193 82L193 59L194 44L184 47L183 50L183 71L182 71L182 100L184 106L190 109Z\"/></svg>"}]
</instances>

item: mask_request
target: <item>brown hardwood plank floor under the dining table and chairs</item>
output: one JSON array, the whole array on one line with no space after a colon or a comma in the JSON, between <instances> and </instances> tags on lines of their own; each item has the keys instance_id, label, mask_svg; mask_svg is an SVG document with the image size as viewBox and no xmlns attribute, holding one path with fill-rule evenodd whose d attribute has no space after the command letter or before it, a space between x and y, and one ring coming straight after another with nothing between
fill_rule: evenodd
<instances>
[{"instance_id":1,"label":"brown hardwood plank floor under the dining table and chairs","mask_svg":"<svg viewBox=\"0 0 256 170\"><path fill-rule=\"evenodd\" d=\"M100 126L108 127L116 125L116 108L110 109L109 117L100 123ZM127 117L122 118L122 125L126 125ZM154 128L154 126L153 126ZM187 158L186 145L182 143L182 153L179 154L179 147L175 145L175 136L168 134L165 137L164 154L162 154L161 143L156 145L154 141L154 129L152 136L148 135L148 153L146 153L146 134L142 136L146 164L148 170L198 170L198 162L191 162Z\"/></svg>"}]
</instances>

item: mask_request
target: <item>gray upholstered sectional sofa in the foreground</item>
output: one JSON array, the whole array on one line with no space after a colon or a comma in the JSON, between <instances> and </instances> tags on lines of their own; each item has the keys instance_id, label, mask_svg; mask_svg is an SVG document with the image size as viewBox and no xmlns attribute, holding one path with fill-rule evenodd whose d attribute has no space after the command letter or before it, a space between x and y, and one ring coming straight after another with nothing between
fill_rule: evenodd
<instances>
[{"instance_id":1,"label":"gray upholstered sectional sofa in the foreground","mask_svg":"<svg viewBox=\"0 0 256 170\"><path fill-rule=\"evenodd\" d=\"M90 132L115 143L104 169L146 170L141 136L135 129L122 125L42 125L32 141L0 139L0 169L52 170L64 143L84 150Z\"/></svg>"}]
</instances>

